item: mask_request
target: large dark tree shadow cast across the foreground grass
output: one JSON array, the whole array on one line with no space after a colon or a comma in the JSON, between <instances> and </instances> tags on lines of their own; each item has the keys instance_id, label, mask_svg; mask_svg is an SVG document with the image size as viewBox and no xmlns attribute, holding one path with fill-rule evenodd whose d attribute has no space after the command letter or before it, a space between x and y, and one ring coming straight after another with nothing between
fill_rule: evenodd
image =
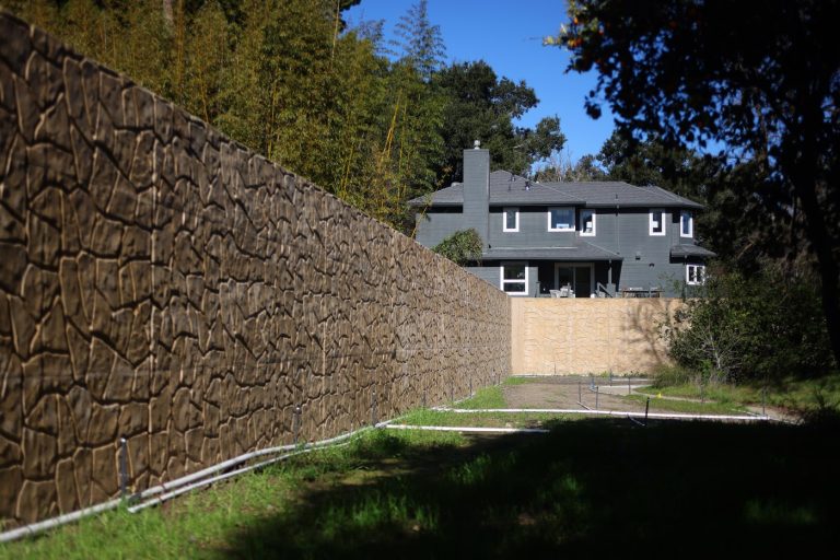
<instances>
[{"instance_id":1,"label":"large dark tree shadow cast across the foreground grass","mask_svg":"<svg viewBox=\"0 0 840 560\"><path fill-rule=\"evenodd\" d=\"M378 476L304 486L293 506L232 535L220 552L801 557L838 544L836 434L808 427L643 429L626 420L583 420L558 422L545 436L420 451L386 433L360 457Z\"/></svg>"}]
</instances>

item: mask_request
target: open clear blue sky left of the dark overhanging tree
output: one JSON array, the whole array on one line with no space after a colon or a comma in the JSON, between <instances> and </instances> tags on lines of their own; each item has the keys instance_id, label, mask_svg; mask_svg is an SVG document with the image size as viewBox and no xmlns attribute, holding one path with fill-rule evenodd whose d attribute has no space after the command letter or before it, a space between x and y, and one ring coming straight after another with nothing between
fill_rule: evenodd
<instances>
[{"instance_id":1,"label":"open clear blue sky left of the dark overhanging tree","mask_svg":"<svg viewBox=\"0 0 840 560\"><path fill-rule=\"evenodd\" d=\"M416 0L362 0L345 14L353 26L361 21L384 20L386 38L399 16ZM542 37L556 35L567 20L562 0L428 0L429 20L440 25L448 62L483 59L498 75L525 82L534 89L539 105L520 124L532 127L557 115L567 137L565 155L576 161L597 153L612 132L607 107L598 120L586 116L583 100L594 88L596 75L565 73L568 54L544 47Z\"/></svg>"}]
</instances>

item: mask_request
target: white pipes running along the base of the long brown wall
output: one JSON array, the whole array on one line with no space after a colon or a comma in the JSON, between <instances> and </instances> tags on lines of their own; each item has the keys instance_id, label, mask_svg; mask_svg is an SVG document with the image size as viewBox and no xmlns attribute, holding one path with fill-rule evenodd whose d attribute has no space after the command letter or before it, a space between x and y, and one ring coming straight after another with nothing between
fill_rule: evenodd
<instances>
[{"instance_id":1,"label":"white pipes running along the base of the long brown wall","mask_svg":"<svg viewBox=\"0 0 840 560\"><path fill-rule=\"evenodd\" d=\"M375 425L375 428L382 428L382 427L387 425L389 422L393 422L393 421L394 420L388 420L388 421L385 421L385 422L380 422L380 423L377 423ZM163 493L163 495L161 495L159 498L155 498L153 500L150 500L149 502L143 502L143 503L140 503L138 505L129 508L129 511L131 511L133 513L133 512L137 512L137 511L140 511L140 510L143 510L145 508L149 508L150 505L156 505L156 504L162 503L162 502L164 502L164 501L166 501L166 500L168 500L171 498L174 498L175 495L180 495L182 493L185 493L185 492L187 492L189 490L192 490L195 488L199 488L201 486L206 486L206 485L219 481L219 480L224 480L226 478L231 478L231 477L236 476L238 474L246 472L248 470L254 470L256 468L269 465L271 463L276 463L278 460L282 460L282 459L291 457L293 455L299 455L301 453L310 453L310 452L318 450L318 448L328 447L330 445L339 444L339 443L343 442L345 440L353 438L354 435L358 435L358 434L360 434L362 432L365 432L365 431L368 431L370 429L371 429L371 427L361 428L359 430L355 430L355 431L352 431L352 432L339 435L337 438L330 438L328 440L322 440L322 441L314 442L314 443L305 443L305 444L302 444L302 445L293 445L293 444L292 445L279 445L279 446L276 446L276 447L267 447L265 450L258 450L258 451L255 451L255 452L245 453L245 454L240 455L237 457L234 457L232 459L228 459L228 460L224 460L222 463L219 463L218 465L213 465L212 467L208 467L208 468L199 470L197 472L192 472L191 475L187 475L187 476L184 476L184 477L180 477L180 478L176 478L175 480L171 480L168 482L163 482L161 485L158 485L158 486L152 487L152 488L148 488L148 489L145 489L145 490L143 490L141 492L138 492L138 493L133 494L130 498L138 499L138 500L142 501L142 500L145 500L145 499L151 498L153 495ZM213 478L211 478L211 479L209 479L207 481L201 481L201 482L197 482L197 483L190 485L190 486L188 486L186 488L183 488L182 490L178 490L178 491L174 491L176 488L180 488L180 487L184 487L185 485L189 485L190 482L195 482L196 480L203 479L203 478L209 477L210 475L213 475L213 474L215 474L215 472L218 472L220 470L224 470L226 468L231 468L233 466L236 466L236 465L240 465L242 463L245 463L246 460L250 460L250 459L254 459L254 458L257 458L257 457L262 457L265 455L273 455L276 453L282 453L282 452L288 452L288 451L293 451L293 450L298 450L298 451L294 452L294 453L284 454L284 455L282 455L280 457L276 457L273 459L269 459L269 460L265 460L262 463L258 463L256 465L252 465L249 467L241 468L241 469L234 470L232 472L228 472L225 475L213 477ZM108 510L114 510L117 506L119 506L122 503L122 501L124 500L121 498L115 499L115 500L109 500L107 502L103 502L103 503L100 503L100 504L96 504L96 505L92 505L92 506L85 508L83 510L78 510L78 511L74 511L74 512L71 512L71 513L66 513L66 514L59 515L57 517L51 517L49 520L44 520L44 521L38 522L38 523L32 523L30 525L24 525L23 527L18 527L18 528L12 529L12 530L7 530L4 533L0 533L0 542L9 542L9 541L12 541L12 540L16 540L16 539L19 539L21 537L36 535L38 533L43 533L45 530L58 527L60 525L65 525L67 523L72 523L74 521L82 520L82 518L88 517L90 515L94 515L94 514L97 514L97 513L106 512Z\"/></svg>"}]
</instances>

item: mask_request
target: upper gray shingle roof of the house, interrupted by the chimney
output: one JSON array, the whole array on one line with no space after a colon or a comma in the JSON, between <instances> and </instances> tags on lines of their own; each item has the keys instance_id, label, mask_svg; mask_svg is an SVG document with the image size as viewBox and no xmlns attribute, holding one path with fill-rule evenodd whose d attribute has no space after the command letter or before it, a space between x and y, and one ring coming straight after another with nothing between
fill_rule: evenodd
<instances>
[{"instance_id":1,"label":"upper gray shingle roof of the house, interrupted by the chimney","mask_svg":"<svg viewBox=\"0 0 840 560\"><path fill-rule=\"evenodd\" d=\"M428 197L409 201L412 206L425 206ZM432 206L462 206L464 185L438 190L431 196ZM634 187L620 180L592 180L583 183L533 183L506 171L490 174L490 206L545 206L570 205L590 208L703 208L702 205L669 192L660 187Z\"/></svg>"}]
</instances>

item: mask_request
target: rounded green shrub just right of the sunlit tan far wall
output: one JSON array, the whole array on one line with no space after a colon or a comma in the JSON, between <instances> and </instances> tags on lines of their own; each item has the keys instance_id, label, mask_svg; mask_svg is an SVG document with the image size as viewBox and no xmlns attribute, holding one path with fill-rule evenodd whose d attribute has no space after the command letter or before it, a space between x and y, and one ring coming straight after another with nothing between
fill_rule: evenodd
<instances>
[{"instance_id":1,"label":"rounded green shrub just right of the sunlit tan far wall","mask_svg":"<svg viewBox=\"0 0 840 560\"><path fill-rule=\"evenodd\" d=\"M813 377L833 366L816 287L763 270L709 278L663 326L670 357L710 382Z\"/></svg>"}]
</instances>

